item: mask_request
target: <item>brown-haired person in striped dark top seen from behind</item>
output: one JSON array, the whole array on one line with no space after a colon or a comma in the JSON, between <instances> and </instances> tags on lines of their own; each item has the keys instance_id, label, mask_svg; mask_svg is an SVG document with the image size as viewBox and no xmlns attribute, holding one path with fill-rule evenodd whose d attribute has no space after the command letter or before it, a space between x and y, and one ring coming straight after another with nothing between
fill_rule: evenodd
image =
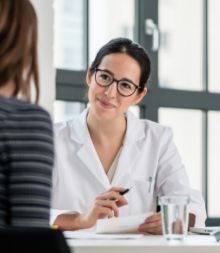
<instances>
[{"instance_id":1,"label":"brown-haired person in striped dark top seen from behind","mask_svg":"<svg viewBox=\"0 0 220 253\"><path fill-rule=\"evenodd\" d=\"M54 159L39 98L37 18L29 0L0 0L0 228L48 227ZM34 91L32 89L32 91ZM18 99L18 98L19 99Z\"/></svg>"}]
</instances>

